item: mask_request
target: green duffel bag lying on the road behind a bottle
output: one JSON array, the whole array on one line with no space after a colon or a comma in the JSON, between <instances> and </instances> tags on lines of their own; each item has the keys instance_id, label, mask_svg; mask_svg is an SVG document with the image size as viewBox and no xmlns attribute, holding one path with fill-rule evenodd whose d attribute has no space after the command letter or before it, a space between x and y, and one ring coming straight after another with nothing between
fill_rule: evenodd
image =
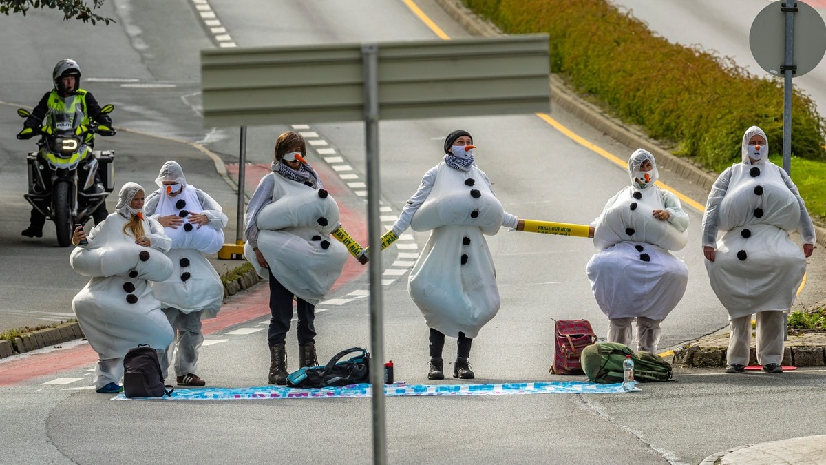
<instances>
[{"instance_id":1,"label":"green duffel bag lying on the road behind a bottle","mask_svg":"<svg viewBox=\"0 0 826 465\"><path fill-rule=\"evenodd\" d=\"M626 355L634 361L634 381L676 381L672 379L671 363L656 353L635 353L620 343L596 343L582 349L582 371L589 380L599 384L622 382L622 362Z\"/></svg>"}]
</instances>

